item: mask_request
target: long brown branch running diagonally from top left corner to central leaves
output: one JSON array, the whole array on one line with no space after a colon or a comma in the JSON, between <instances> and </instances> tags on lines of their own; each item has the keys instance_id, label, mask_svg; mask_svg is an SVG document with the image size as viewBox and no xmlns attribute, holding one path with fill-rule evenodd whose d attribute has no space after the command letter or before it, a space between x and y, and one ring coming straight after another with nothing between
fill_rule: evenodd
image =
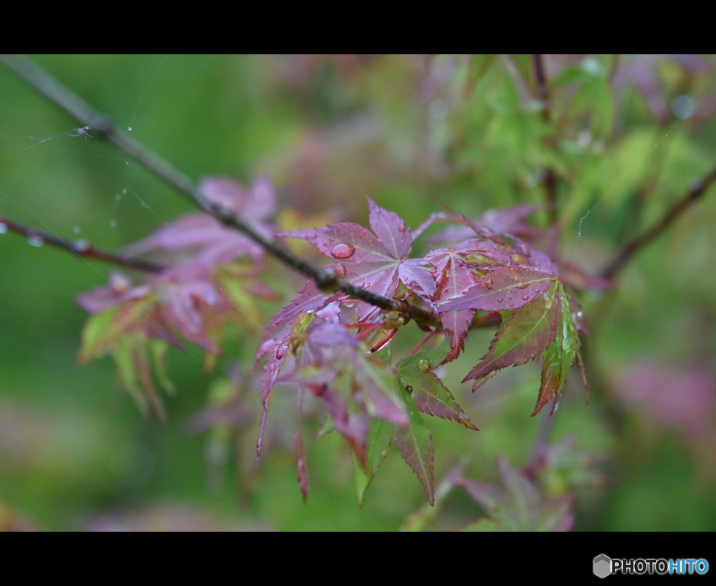
<instances>
[{"instance_id":1,"label":"long brown branch running diagonally from top left corner to central leaves","mask_svg":"<svg viewBox=\"0 0 716 586\"><path fill-rule=\"evenodd\" d=\"M54 104L61 107L62 110L67 112L80 124L88 126L89 129L95 133L95 136L109 140L117 148L137 160L138 163L144 165L155 175L174 186L193 203L200 206L200 208L207 213L210 213L211 216L217 218L226 226L231 226L231 228L246 234L246 236L257 244L260 244L271 256L291 266L291 268L296 269L296 271L301 272L306 277L313 279L320 289L326 291L342 291L350 297L360 299L380 309L408 314L419 322L430 324L437 322L437 316L431 312L426 312L425 309L356 287L344 279L339 279L335 272L318 269L316 266L294 256L294 254L285 249L279 242L264 236L251 226L251 224L243 220L243 218L234 215L231 211L222 208L217 203L208 199L188 176L185 176L184 173L175 168L167 160L161 158L160 155L154 153L153 150L148 149L145 145L142 145L142 143L120 132L112 123L110 117L97 112L94 107L87 104L81 97L62 85L58 80L55 80L52 75L49 75L48 72L44 71L44 69L30 59L17 55L4 55L2 59L14 72L32 85L32 87L48 97Z\"/></svg>"}]
</instances>

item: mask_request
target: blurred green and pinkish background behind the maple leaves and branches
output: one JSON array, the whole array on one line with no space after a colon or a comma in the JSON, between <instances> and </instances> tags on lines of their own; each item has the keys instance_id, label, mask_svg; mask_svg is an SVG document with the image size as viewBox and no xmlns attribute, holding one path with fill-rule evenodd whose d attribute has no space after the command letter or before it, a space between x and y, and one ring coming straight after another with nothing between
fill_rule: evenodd
<instances>
[{"instance_id":1,"label":"blurred green and pinkish background behind the maple leaves and branches","mask_svg":"<svg viewBox=\"0 0 716 586\"><path fill-rule=\"evenodd\" d=\"M364 224L365 195L414 227L442 206L475 217L541 203L551 167L562 254L598 272L716 164L712 57L546 56L548 115L521 55L34 59L192 178L246 184L267 174L286 226L311 215ZM111 145L69 136L78 124L4 66L0 105L1 216L120 249L191 209ZM552 434L576 435L584 456L556 472L574 485L575 529L716 529L714 218L707 193L614 291L579 296L591 401L573 373ZM538 212L533 224L546 219ZM383 530L424 505L393 449L359 509L336 433L305 434L304 505L293 391L275 395L271 449L258 462L255 389L245 389L236 430L190 430L221 400L233 363L250 368L255 333L237 333L216 375L202 373L197 347L171 352L178 394L165 400L164 428L142 418L109 358L77 365L85 314L74 297L106 284L110 267L9 232L0 267L0 528ZM266 306L267 320L276 307ZM516 466L530 456L538 366L508 369L474 395L460 384L490 337L470 332L465 355L442 373L481 431L428 422L437 482L461 461L466 475L495 481L498 454ZM419 339L401 332L393 355ZM309 430L320 414L308 405ZM572 482L586 469L586 481ZM481 514L454 491L436 526Z\"/></svg>"}]
</instances>

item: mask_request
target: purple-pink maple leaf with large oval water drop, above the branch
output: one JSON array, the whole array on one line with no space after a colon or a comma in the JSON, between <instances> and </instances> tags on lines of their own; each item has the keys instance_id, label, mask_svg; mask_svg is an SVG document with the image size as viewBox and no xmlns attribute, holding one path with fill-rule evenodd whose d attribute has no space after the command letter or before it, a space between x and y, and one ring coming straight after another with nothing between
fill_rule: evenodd
<instances>
[{"instance_id":1,"label":"purple-pink maple leaf with large oval water drop, above the branch","mask_svg":"<svg viewBox=\"0 0 716 586\"><path fill-rule=\"evenodd\" d=\"M410 226L397 213L368 199L372 232L352 222L329 224L312 230L283 232L278 236L301 238L333 259L332 267L342 279L384 297L392 297L399 280L423 299L435 292L432 266L425 259L406 259L412 245ZM379 311L365 302L357 307L359 320Z\"/></svg>"}]
</instances>

